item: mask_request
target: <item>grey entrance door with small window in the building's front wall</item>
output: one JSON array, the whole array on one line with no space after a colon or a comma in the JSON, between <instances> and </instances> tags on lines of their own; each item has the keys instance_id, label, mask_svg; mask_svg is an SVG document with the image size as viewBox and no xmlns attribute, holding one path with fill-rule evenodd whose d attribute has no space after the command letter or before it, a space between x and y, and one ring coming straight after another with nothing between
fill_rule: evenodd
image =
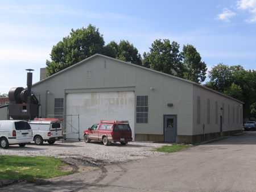
<instances>
[{"instance_id":1,"label":"grey entrance door with small window in the building's front wall","mask_svg":"<svg viewBox=\"0 0 256 192\"><path fill-rule=\"evenodd\" d=\"M164 115L164 142L176 142L177 116Z\"/></svg>"}]
</instances>

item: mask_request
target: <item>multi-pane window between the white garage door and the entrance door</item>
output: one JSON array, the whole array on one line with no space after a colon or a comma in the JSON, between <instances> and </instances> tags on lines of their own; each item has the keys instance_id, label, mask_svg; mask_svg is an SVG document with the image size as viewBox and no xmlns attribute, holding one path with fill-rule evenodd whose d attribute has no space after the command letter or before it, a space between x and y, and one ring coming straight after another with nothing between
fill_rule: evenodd
<instances>
[{"instance_id":1,"label":"multi-pane window between the white garage door and the entrance door","mask_svg":"<svg viewBox=\"0 0 256 192\"><path fill-rule=\"evenodd\" d=\"M148 96L137 96L136 105L136 122L147 123L148 122Z\"/></svg>"}]
</instances>

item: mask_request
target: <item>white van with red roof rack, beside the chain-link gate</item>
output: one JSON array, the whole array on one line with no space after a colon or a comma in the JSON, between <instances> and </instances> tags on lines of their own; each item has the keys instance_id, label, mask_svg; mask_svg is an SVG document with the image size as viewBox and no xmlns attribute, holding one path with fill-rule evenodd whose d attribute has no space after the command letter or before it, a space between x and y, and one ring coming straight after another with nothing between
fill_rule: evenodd
<instances>
[{"instance_id":1,"label":"white van with red roof rack, beside the chain-link gate","mask_svg":"<svg viewBox=\"0 0 256 192\"><path fill-rule=\"evenodd\" d=\"M63 138L61 119L35 118L28 123L33 130L33 140L36 145L42 145L43 141L53 144Z\"/></svg>"}]
</instances>

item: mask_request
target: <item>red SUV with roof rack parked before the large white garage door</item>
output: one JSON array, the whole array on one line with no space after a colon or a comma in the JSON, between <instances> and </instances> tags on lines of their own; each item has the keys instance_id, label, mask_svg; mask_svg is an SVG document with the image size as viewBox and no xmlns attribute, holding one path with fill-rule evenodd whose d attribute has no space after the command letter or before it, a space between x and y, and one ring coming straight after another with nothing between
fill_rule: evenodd
<instances>
[{"instance_id":1,"label":"red SUV with roof rack parked before the large white garage door","mask_svg":"<svg viewBox=\"0 0 256 192\"><path fill-rule=\"evenodd\" d=\"M104 145L111 142L126 145L133 140L133 137L131 137L131 128L127 120L101 120L100 123L95 123L84 131L85 143L90 143L91 140L103 141Z\"/></svg>"}]
</instances>

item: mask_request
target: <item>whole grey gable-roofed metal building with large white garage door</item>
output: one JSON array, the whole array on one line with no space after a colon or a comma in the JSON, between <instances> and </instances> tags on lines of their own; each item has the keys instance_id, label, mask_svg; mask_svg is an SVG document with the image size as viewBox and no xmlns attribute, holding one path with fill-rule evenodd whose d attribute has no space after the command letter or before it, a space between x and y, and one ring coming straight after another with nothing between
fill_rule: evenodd
<instances>
[{"instance_id":1,"label":"whole grey gable-roofed metal building with large white garage door","mask_svg":"<svg viewBox=\"0 0 256 192\"><path fill-rule=\"evenodd\" d=\"M99 54L44 78L32 91L42 118L79 115L80 137L100 120L129 120L137 141L195 143L242 132L241 101Z\"/></svg>"}]
</instances>

